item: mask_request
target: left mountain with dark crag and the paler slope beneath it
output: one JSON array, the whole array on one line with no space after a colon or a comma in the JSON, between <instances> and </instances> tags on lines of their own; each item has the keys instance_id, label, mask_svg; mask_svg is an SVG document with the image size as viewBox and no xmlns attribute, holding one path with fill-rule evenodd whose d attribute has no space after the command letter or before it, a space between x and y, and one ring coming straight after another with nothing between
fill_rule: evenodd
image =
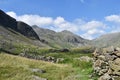
<instances>
[{"instance_id":1,"label":"left mountain with dark crag and the paler slope beneath it","mask_svg":"<svg viewBox=\"0 0 120 80\"><path fill-rule=\"evenodd\" d=\"M0 44L8 42L45 46L31 26L0 10Z\"/></svg>"}]
</instances>

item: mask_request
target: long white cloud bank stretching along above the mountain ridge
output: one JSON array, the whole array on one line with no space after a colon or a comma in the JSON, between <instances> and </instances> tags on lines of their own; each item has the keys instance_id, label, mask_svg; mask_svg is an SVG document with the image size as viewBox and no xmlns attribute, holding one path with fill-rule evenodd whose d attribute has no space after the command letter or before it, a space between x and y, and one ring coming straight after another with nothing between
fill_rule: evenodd
<instances>
[{"instance_id":1,"label":"long white cloud bank stretching along above the mountain ridge","mask_svg":"<svg viewBox=\"0 0 120 80\"><path fill-rule=\"evenodd\" d=\"M23 21L29 25L38 25L39 27L49 28L55 31L69 30L73 33L86 38L93 39L96 35L104 33L106 25L100 21L86 22L82 19L75 19L72 22L65 20L63 17L42 17L39 15L17 15L15 12L7 12L8 15L16 20Z\"/></svg>"}]
</instances>

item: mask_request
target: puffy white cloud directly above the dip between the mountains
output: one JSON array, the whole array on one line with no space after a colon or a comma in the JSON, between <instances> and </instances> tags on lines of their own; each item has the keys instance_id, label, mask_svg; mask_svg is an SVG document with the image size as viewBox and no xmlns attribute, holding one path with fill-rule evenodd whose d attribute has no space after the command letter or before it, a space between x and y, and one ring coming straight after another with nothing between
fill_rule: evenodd
<instances>
[{"instance_id":1,"label":"puffy white cloud directly above the dip between the mountains","mask_svg":"<svg viewBox=\"0 0 120 80\"><path fill-rule=\"evenodd\" d=\"M85 31L85 33L82 34L82 37L94 39L96 36L104 34L105 28L107 29L107 26L100 21L89 21L81 26L81 30Z\"/></svg>"}]
</instances>

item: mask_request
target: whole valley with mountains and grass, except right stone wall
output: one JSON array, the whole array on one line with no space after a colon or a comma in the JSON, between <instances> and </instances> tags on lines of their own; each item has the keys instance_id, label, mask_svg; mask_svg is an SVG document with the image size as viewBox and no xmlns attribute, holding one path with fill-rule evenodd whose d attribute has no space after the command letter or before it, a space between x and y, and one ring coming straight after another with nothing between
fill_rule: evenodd
<instances>
[{"instance_id":1,"label":"whole valley with mountains and grass, except right stone wall","mask_svg":"<svg viewBox=\"0 0 120 80\"><path fill-rule=\"evenodd\" d=\"M117 32L88 40L30 26L0 10L0 80L97 80L92 53L120 47L119 37Z\"/></svg>"}]
</instances>

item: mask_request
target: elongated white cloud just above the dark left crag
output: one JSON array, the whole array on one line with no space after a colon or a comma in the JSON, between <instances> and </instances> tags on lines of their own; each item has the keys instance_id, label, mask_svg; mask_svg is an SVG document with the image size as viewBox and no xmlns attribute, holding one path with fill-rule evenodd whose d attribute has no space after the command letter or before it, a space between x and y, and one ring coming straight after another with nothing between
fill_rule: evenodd
<instances>
[{"instance_id":1,"label":"elongated white cloud just above the dark left crag","mask_svg":"<svg viewBox=\"0 0 120 80\"><path fill-rule=\"evenodd\" d=\"M15 12L7 12L8 15L12 16L13 18L17 19L18 21L23 21L29 25L38 25L38 26L45 26L50 25L53 22L51 17L41 17L39 15L16 15Z\"/></svg>"}]
</instances>

